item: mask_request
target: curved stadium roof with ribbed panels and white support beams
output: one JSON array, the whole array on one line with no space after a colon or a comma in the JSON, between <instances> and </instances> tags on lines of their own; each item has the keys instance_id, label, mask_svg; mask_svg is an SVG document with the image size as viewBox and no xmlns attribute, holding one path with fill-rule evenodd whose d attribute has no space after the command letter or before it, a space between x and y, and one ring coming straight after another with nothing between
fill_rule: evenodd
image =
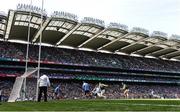
<instances>
[{"instance_id":1,"label":"curved stadium roof with ribbed panels and white support beams","mask_svg":"<svg viewBox=\"0 0 180 112\"><path fill-rule=\"evenodd\" d=\"M31 12L31 13L30 13ZM42 18L42 19L41 19ZM42 23L42 27L41 27ZM28 26L30 25L30 29ZM119 23L105 26L104 21L84 17L82 21L71 13L58 12L48 17L46 11L29 5L18 5L8 15L0 12L0 39L42 42L54 46L87 48L95 51L152 56L162 59L180 59L180 36L144 28L128 27Z\"/></svg>"}]
</instances>

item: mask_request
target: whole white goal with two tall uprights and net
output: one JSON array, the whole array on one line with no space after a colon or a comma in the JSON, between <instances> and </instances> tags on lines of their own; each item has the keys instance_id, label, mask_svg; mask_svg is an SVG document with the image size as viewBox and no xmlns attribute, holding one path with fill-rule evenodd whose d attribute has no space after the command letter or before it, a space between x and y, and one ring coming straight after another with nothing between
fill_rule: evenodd
<instances>
[{"instance_id":1,"label":"whole white goal with two tall uprights and net","mask_svg":"<svg viewBox=\"0 0 180 112\"><path fill-rule=\"evenodd\" d=\"M41 24L40 28L43 25L43 11L44 11L44 0L41 0ZM25 59L25 73L17 77L13 85L8 102L15 101L26 101L26 100L37 100L38 98L38 79L40 77L40 62L41 62L41 43L42 43L42 32L39 37L39 51L38 51L38 67L33 70L28 70L28 61L29 61L29 43L30 43L30 24L32 18L32 0L30 0L30 12L29 12L29 21L28 21L28 34L27 34L27 48L26 48L26 59ZM36 72L37 71L37 72Z\"/></svg>"}]
</instances>

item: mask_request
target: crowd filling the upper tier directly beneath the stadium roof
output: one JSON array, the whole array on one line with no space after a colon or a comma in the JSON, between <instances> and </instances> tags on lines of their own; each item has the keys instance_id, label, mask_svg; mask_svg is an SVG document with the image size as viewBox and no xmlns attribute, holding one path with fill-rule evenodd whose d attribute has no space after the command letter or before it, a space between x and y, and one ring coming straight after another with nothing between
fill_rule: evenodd
<instances>
[{"instance_id":1,"label":"crowd filling the upper tier directly beneath the stadium roof","mask_svg":"<svg viewBox=\"0 0 180 112\"><path fill-rule=\"evenodd\" d=\"M25 59L26 45L0 42L0 58ZM160 72L179 72L180 62L162 59L105 54L98 52L42 47L41 60L61 64L89 65L98 67L113 67L127 70L146 70ZM30 61L38 60L38 46L30 45Z\"/></svg>"}]
</instances>

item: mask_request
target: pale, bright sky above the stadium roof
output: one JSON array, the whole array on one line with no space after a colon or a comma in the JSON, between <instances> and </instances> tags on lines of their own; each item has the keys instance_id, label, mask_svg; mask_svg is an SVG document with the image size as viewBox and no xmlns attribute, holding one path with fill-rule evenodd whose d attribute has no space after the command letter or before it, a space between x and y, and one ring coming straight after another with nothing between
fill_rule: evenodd
<instances>
[{"instance_id":1,"label":"pale, bright sky above the stadium roof","mask_svg":"<svg viewBox=\"0 0 180 112\"><path fill-rule=\"evenodd\" d=\"M8 13L18 3L30 4L31 0L0 0L0 11ZM41 7L41 0L32 0ZM180 35L180 0L44 0L44 8L50 15L53 11L65 11L83 17L93 17L117 22L150 31L162 31Z\"/></svg>"}]
</instances>

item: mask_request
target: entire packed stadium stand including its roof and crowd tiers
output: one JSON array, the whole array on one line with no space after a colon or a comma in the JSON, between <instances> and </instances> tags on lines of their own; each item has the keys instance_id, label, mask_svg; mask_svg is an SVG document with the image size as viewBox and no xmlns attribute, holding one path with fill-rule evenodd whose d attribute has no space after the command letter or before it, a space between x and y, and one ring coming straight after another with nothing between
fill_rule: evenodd
<instances>
[{"instance_id":1,"label":"entire packed stadium stand including its roof and crowd tiers","mask_svg":"<svg viewBox=\"0 0 180 112\"><path fill-rule=\"evenodd\" d=\"M129 86L129 98L179 98L180 36L119 23L84 17L81 22L71 13L55 11L48 17L39 8L19 4L8 15L0 13L0 89L7 101L15 78L28 67L37 67L39 36L42 33L41 74L50 77L49 99L60 83L64 99L83 99L82 81L93 89L107 83L109 99L124 98L121 82ZM29 16L30 10L32 11ZM30 19L30 21L29 21ZM27 42L30 22L30 42ZM40 26L43 22L42 27ZM151 57L151 58L150 58ZM35 100L36 74L28 77L27 100Z\"/></svg>"}]
</instances>

